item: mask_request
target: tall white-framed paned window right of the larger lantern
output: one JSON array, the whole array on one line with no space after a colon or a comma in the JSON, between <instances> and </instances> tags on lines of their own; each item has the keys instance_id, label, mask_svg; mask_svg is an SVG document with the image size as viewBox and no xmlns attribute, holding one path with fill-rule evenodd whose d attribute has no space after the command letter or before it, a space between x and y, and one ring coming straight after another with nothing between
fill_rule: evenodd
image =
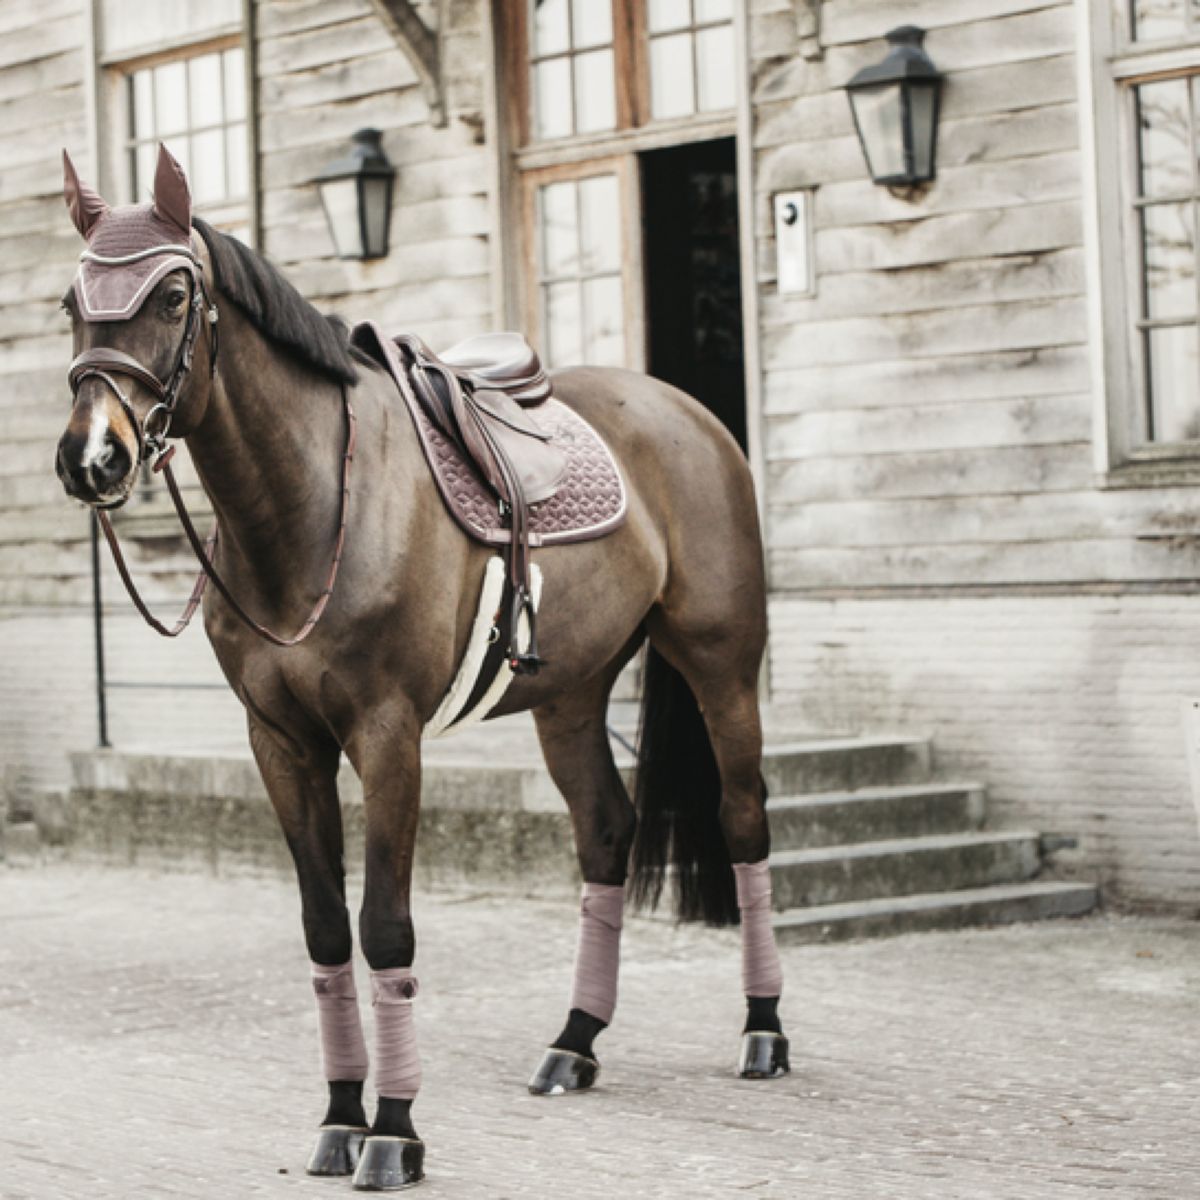
<instances>
[{"instance_id":1,"label":"tall white-framed paned window right of the larger lantern","mask_svg":"<svg viewBox=\"0 0 1200 1200\"><path fill-rule=\"evenodd\" d=\"M1162 468L1200 462L1200 5L1111 5L1093 58L1105 466Z\"/></svg>"}]
</instances>

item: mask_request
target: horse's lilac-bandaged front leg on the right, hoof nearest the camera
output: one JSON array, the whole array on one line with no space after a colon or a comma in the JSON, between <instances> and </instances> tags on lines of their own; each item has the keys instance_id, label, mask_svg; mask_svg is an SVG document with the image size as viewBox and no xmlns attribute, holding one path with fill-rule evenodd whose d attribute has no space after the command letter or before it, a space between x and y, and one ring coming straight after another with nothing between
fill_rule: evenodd
<instances>
[{"instance_id":1,"label":"horse's lilac-bandaged front leg on the right, hoof nearest the camera","mask_svg":"<svg viewBox=\"0 0 1200 1200\"><path fill-rule=\"evenodd\" d=\"M354 1174L360 1190L388 1192L424 1177L425 1145L412 1108L421 1086L413 998L415 937L409 902L420 809L420 726L408 713L371 724L347 745L366 818L366 876L359 938L371 966L379 1106Z\"/></svg>"}]
</instances>

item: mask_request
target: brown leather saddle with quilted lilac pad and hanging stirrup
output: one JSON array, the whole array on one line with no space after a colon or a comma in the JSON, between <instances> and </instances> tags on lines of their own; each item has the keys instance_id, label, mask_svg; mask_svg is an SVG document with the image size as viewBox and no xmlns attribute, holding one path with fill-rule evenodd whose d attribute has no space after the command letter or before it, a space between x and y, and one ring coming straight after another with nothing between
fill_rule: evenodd
<instances>
[{"instance_id":1,"label":"brown leather saddle with quilted lilac pad and hanging stirrup","mask_svg":"<svg viewBox=\"0 0 1200 1200\"><path fill-rule=\"evenodd\" d=\"M553 398L550 377L520 334L470 337L439 356L419 337L388 337L365 322L352 342L395 379L451 515L470 536L505 547L500 643L514 672L535 674L542 660L530 546L617 528L625 492L616 462L595 431Z\"/></svg>"}]
</instances>

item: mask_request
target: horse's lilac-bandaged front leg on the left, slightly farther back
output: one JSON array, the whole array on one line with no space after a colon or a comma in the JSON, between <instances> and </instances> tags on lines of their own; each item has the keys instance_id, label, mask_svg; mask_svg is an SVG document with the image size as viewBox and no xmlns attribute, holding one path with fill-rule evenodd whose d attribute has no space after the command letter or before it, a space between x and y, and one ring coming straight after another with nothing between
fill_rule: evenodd
<instances>
[{"instance_id":1,"label":"horse's lilac-bandaged front leg on the left, slightly farther back","mask_svg":"<svg viewBox=\"0 0 1200 1200\"><path fill-rule=\"evenodd\" d=\"M312 960L329 1108L308 1159L311 1175L350 1175L366 1136L362 1084L367 1048L354 989L346 911L338 748L292 740L251 719L250 744L296 866L305 942Z\"/></svg>"}]
</instances>

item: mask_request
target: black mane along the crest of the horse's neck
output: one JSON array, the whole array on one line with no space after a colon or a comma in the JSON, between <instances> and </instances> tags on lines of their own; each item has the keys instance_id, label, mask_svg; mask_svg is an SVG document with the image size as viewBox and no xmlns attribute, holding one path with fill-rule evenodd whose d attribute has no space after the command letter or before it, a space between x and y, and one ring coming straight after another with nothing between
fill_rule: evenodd
<instances>
[{"instance_id":1,"label":"black mane along the crest of the horse's neck","mask_svg":"<svg viewBox=\"0 0 1200 1200\"><path fill-rule=\"evenodd\" d=\"M265 258L236 238L192 220L212 258L214 284L272 342L341 383L358 382L349 329L318 312Z\"/></svg>"}]
</instances>

